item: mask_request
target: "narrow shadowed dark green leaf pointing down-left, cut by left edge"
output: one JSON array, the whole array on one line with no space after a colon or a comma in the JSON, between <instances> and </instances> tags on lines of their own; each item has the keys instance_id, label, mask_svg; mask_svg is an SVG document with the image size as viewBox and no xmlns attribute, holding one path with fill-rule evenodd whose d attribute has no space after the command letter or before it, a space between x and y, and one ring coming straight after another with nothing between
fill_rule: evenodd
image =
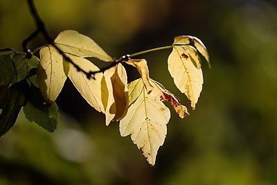
<instances>
[{"instance_id":1,"label":"narrow shadowed dark green leaf pointing down-left, cut by left edge","mask_svg":"<svg viewBox=\"0 0 277 185\"><path fill-rule=\"evenodd\" d=\"M10 87L10 98L0 115L0 136L6 134L15 125L19 111L24 106L28 89L26 80L17 82Z\"/></svg>"}]
</instances>

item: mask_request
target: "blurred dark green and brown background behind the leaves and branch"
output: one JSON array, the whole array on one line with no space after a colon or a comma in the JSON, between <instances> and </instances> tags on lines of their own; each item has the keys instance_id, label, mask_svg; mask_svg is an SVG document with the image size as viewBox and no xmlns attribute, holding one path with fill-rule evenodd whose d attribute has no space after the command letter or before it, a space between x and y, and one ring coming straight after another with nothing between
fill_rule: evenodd
<instances>
[{"instance_id":1,"label":"blurred dark green and brown background behind the leaves and branch","mask_svg":"<svg viewBox=\"0 0 277 185\"><path fill-rule=\"evenodd\" d=\"M184 119L171 112L154 168L129 136L120 137L118 123L106 127L104 115L66 82L54 133L20 114L0 138L0 184L277 184L277 1L35 3L53 37L78 30L119 58L194 35L206 45L212 69L202 62L204 89L193 111L168 73L170 51L141 56L150 77L190 112ZM0 1L0 48L22 51L22 40L34 30L26 1ZM30 47L42 44L40 36ZM129 80L138 77L132 68L128 73Z\"/></svg>"}]
</instances>

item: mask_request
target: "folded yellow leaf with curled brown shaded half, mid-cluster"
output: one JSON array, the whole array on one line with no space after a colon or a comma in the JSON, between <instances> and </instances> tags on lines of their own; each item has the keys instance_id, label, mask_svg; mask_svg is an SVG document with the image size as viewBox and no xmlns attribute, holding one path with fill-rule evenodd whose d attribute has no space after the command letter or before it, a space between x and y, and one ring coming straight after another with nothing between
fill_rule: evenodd
<instances>
[{"instance_id":1,"label":"folded yellow leaf with curled brown shaded half, mid-cluster","mask_svg":"<svg viewBox=\"0 0 277 185\"><path fill-rule=\"evenodd\" d=\"M127 73L122 64L107 69L104 73L108 91L107 107L105 111L106 125L111 121L119 121L128 109Z\"/></svg>"}]
</instances>

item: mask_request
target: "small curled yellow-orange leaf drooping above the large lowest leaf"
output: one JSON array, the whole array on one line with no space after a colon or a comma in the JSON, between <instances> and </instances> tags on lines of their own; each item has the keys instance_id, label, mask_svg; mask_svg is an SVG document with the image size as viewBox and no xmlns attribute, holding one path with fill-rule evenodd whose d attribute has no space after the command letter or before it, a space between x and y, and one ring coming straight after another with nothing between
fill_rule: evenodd
<instances>
[{"instance_id":1,"label":"small curled yellow-orange leaf drooping above the large lowest leaf","mask_svg":"<svg viewBox=\"0 0 277 185\"><path fill-rule=\"evenodd\" d=\"M150 84L150 77L149 77L149 70L148 70L148 64L145 59L132 59L125 61L126 64L132 65L133 67L136 67L136 69L141 74L141 78L144 82L144 85L148 91L148 94L152 91L153 87Z\"/></svg>"}]
</instances>

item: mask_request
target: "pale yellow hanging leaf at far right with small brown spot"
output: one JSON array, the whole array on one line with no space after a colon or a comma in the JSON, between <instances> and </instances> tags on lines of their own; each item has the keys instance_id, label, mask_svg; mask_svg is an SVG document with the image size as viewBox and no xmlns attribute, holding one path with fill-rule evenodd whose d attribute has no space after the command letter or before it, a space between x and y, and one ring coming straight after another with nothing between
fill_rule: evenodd
<instances>
[{"instance_id":1,"label":"pale yellow hanging leaf at far right with small brown spot","mask_svg":"<svg viewBox=\"0 0 277 185\"><path fill-rule=\"evenodd\" d=\"M177 88L186 94L190 100L190 106L195 109L202 91L203 74L202 69L195 67L192 58L186 55L185 51L183 46L173 46L168 57L168 71Z\"/></svg>"}]
</instances>

